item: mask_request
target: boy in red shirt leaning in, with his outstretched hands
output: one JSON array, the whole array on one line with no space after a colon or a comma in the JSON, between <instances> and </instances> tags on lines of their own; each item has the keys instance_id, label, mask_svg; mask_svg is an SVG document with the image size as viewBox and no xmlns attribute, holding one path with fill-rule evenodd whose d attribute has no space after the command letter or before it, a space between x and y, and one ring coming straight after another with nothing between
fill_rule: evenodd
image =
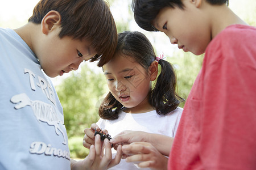
<instances>
[{"instance_id":1,"label":"boy in red shirt leaning in, with his outstretched hands","mask_svg":"<svg viewBox=\"0 0 256 170\"><path fill-rule=\"evenodd\" d=\"M168 169L256 169L256 28L243 22L226 3L133 1L141 28L164 32L184 52L205 53L172 146L168 139ZM156 165L160 157L152 153L156 148L164 154L165 137L153 135L129 132L111 142L151 143L133 143L122 150L133 155L127 158L129 162L164 169Z\"/></svg>"}]
</instances>

